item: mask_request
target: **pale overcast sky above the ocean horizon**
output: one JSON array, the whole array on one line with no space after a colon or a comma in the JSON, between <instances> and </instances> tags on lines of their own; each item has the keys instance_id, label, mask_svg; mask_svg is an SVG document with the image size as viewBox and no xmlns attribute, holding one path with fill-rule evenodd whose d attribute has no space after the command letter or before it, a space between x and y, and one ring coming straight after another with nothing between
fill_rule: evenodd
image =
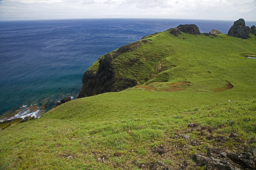
<instances>
[{"instance_id":1,"label":"pale overcast sky above the ocean horizon","mask_svg":"<svg viewBox=\"0 0 256 170\"><path fill-rule=\"evenodd\" d=\"M69 18L256 21L256 0L0 0L0 20Z\"/></svg>"}]
</instances>

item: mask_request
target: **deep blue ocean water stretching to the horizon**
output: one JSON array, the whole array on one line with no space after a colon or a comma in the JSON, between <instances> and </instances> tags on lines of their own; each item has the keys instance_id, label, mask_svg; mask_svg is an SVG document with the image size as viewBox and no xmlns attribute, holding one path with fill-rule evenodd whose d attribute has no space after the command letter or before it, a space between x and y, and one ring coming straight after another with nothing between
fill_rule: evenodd
<instances>
[{"instance_id":1,"label":"deep blue ocean water stretching to the horizon","mask_svg":"<svg viewBox=\"0 0 256 170\"><path fill-rule=\"evenodd\" d=\"M0 21L0 115L22 105L53 108L79 93L82 75L101 55L180 24L228 33L234 21L69 19ZM247 22L247 26L256 25ZM7 114L8 113L8 114Z\"/></svg>"}]
</instances>

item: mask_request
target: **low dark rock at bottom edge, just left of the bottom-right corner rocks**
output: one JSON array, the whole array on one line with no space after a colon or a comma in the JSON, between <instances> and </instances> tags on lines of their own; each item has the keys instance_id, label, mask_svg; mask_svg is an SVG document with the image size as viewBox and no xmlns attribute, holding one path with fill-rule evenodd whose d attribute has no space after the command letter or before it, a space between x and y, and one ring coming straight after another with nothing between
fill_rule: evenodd
<instances>
[{"instance_id":1,"label":"low dark rock at bottom edge, just left of the bottom-right corner rocks","mask_svg":"<svg viewBox=\"0 0 256 170\"><path fill-rule=\"evenodd\" d=\"M207 170L233 170L229 165L220 163L220 160L213 157L205 157L199 154L193 154L192 160L197 166L206 166Z\"/></svg>"}]
</instances>

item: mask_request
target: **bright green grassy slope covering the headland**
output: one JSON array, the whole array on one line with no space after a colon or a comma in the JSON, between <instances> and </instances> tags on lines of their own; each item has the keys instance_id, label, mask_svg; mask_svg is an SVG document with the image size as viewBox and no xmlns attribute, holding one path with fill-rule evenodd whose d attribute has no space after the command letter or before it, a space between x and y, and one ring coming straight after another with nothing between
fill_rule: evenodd
<instances>
[{"instance_id":1,"label":"bright green grassy slope covering the headland","mask_svg":"<svg viewBox=\"0 0 256 170\"><path fill-rule=\"evenodd\" d=\"M242 57L256 54L256 39L251 36L148 36L150 43L114 60L118 76L135 76L142 86L64 103L40 119L1 130L0 169L138 169L139 163L152 161L178 169L192 153L204 153L205 146L214 144L214 139L187 131L189 122L216 128L214 136L235 132L246 141L229 140L219 147L256 147L256 59ZM141 64L126 67L124 63L133 58ZM169 69L158 73L154 68L159 63ZM158 75L148 81L152 73ZM191 83L175 85L182 91L163 90L184 80ZM234 88L225 90L227 81ZM174 133L191 138L175 139ZM196 146L190 144L194 139ZM182 152L173 149L173 156L166 157L151 150L160 144L187 147ZM115 157L115 152L121 156ZM70 154L76 158L66 158ZM103 156L106 162L97 161ZM136 164L131 163L134 160Z\"/></svg>"}]
</instances>

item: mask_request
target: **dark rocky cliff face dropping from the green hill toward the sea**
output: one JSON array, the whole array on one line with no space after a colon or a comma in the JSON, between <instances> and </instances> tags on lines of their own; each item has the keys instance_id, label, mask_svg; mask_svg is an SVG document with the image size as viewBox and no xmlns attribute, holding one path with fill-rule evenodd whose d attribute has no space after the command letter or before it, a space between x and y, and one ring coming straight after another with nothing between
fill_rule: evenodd
<instances>
[{"instance_id":1,"label":"dark rocky cliff face dropping from the green hill toward the sea","mask_svg":"<svg viewBox=\"0 0 256 170\"><path fill-rule=\"evenodd\" d=\"M107 92L118 92L138 85L137 81L128 77L116 77L116 70L112 65L113 59L119 54L134 51L141 46L141 42L132 42L120 47L117 51L105 54L99 59L99 68L87 70L82 76L82 88L77 98L88 97Z\"/></svg>"}]
</instances>

